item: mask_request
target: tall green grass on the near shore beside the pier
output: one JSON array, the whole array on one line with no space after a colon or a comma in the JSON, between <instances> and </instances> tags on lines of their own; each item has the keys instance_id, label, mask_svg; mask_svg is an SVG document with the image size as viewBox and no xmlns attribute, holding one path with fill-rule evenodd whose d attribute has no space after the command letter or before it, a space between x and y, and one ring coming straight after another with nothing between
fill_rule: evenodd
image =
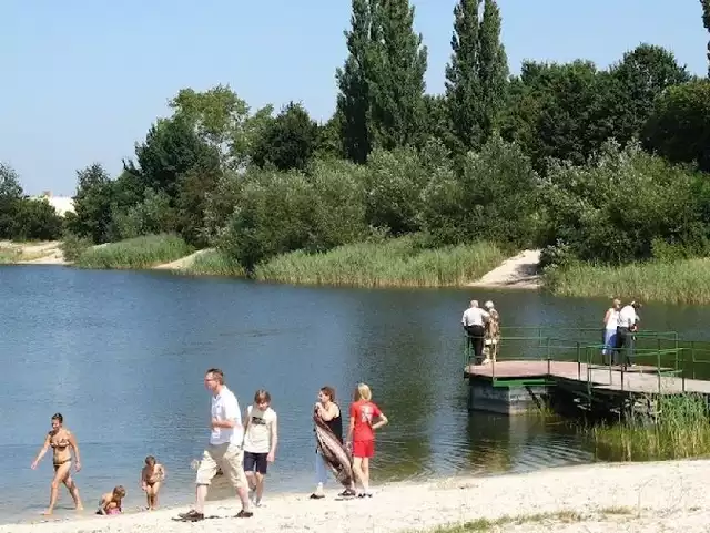
<instances>
[{"instance_id":1,"label":"tall green grass on the near shore beside the pier","mask_svg":"<svg viewBox=\"0 0 710 533\"><path fill-rule=\"evenodd\" d=\"M625 461L710 455L710 408L702 394L658 398L655 420L640 416L592 427L597 452Z\"/></svg>"}]
</instances>

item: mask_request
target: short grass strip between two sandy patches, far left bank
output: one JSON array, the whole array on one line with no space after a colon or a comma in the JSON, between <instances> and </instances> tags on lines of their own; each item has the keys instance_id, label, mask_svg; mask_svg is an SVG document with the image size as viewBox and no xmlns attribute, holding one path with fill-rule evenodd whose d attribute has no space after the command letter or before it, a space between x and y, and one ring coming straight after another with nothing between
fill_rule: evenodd
<instances>
[{"instance_id":1,"label":"short grass strip between two sandy patches, far left bank","mask_svg":"<svg viewBox=\"0 0 710 533\"><path fill-rule=\"evenodd\" d=\"M178 235L146 235L88 248L74 265L81 268L141 269L180 259L193 252L194 248Z\"/></svg>"}]
</instances>

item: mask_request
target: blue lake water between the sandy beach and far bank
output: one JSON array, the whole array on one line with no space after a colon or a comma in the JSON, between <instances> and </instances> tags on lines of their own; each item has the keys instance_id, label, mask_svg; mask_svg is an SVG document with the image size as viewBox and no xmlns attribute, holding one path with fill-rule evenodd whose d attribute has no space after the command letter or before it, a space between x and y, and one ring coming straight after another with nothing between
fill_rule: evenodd
<instances>
[{"instance_id":1,"label":"blue lake water between the sandy beach and far bank","mask_svg":"<svg viewBox=\"0 0 710 533\"><path fill-rule=\"evenodd\" d=\"M334 386L346 409L358 381L372 386L390 419L378 433L375 484L592 461L588 443L564 426L467 412L459 322L471 296L493 298L505 326L597 327L608 304L520 290L0 267L0 522L47 506L51 453L37 471L30 463L57 411L80 444L75 479L89 510L115 484L128 489L126 509L143 505L138 480L148 454L168 469L161 505L190 503L190 463L209 438L202 380L213 366L225 371L242 410L256 389L272 393L280 447L268 492L313 490L317 391ZM651 329L708 338L708 307L648 306L642 318ZM217 482L210 499L225 496L231 490ZM59 517L72 514L71 503L62 486Z\"/></svg>"}]
</instances>

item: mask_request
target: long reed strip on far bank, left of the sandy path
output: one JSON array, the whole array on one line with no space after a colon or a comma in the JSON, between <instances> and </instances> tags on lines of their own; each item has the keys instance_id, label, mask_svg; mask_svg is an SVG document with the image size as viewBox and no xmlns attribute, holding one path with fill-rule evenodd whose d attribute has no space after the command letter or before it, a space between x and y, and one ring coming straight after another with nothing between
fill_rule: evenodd
<instances>
[{"instance_id":1,"label":"long reed strip on far bank, left of the sandy path","mask_svg":"<svg viewBox=\"0 0 710 533\"><path fill-rule=\"evenodd\" d=\"M504 259L505 254L489 243L427 249L407 236L322 254L293 252L257 265L254 277L310 285L443 287L474 281Z\"/></svg>"}]
</instances>

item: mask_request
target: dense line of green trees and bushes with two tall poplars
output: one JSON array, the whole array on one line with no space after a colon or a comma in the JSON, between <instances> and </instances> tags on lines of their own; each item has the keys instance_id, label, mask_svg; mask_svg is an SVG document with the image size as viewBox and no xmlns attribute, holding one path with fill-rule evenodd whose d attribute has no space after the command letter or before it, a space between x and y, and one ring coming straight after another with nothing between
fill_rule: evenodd
<instances>
[{"instance_id":1,"label":"dense line of green trees and bushes with two tall poplars","mask_svg":"<svg viewBox=\"0 0 710 533\"><path fill-rule=\"evenodd\" d=\"M408 0L352 1L324 123L296 102L254 110L226 85L179 91L120 175L78 171L63 230L95 244L179 233L246 268L410 233L541 246L552 264L708 252L707 78L649 43L607 69L526 60L510 75L497 2L459 0L445 91L429 94L414 19Z\"/></svg>"}]
</instances>

